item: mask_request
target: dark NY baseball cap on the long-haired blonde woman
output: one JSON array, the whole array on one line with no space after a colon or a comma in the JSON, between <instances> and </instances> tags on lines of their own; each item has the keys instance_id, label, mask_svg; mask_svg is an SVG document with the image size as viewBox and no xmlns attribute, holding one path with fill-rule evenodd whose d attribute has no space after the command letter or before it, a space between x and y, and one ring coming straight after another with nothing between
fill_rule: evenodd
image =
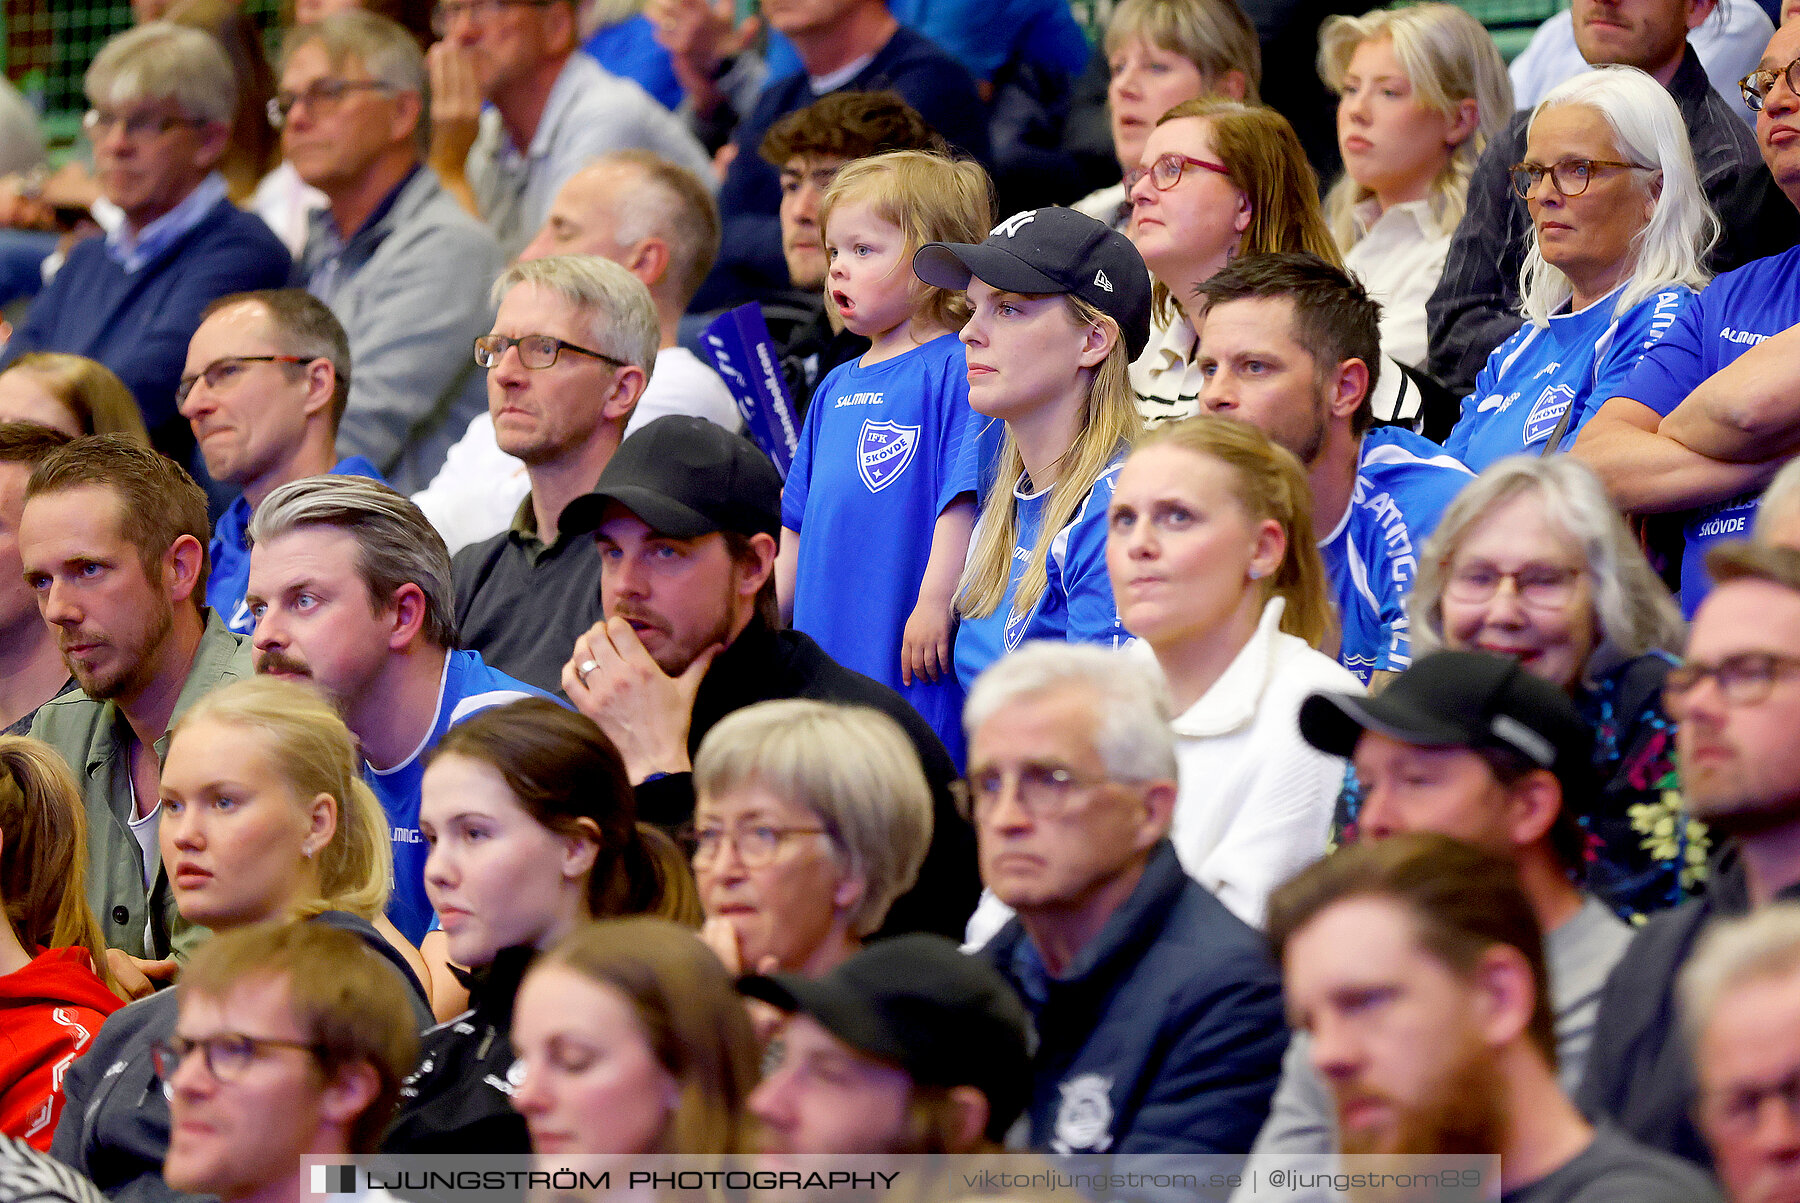
<instances>
[{"instance_id":1,"label":"dark NY baseball cap on the long-haired blonde woman","mask_svg":"<svg viewBox=\"0 0 1800 1203\"><path fill-rule=\"evenodd\" d=\"M1075 209L1026 209L985 243L929 243L913 274L938 288L992 288L1026 295L1066 292L1120 324L1132 358L1150 342L1150 270L1130 240Z\"/></svg>"}]
</instances>

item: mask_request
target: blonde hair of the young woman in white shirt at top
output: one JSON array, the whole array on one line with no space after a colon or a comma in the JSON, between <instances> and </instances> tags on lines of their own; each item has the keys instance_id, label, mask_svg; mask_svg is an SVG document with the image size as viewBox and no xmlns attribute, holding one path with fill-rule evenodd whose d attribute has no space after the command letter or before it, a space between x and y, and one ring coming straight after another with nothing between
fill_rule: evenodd
<instances>
[{"instance_id":1,"label":"blonde hair of the young woman in white shirt at top","mask_svg":"<svg viewBox=\"0 0 1800 1203\"><path fill-rule=\"evenodd\" d=\"M1388 38L1393 56L1413 83L1413 95L1433 113L1456 119L1456 106L1476 103L1476 128L1451 149L1449 160L1431 180L1431 218L1438 232L1462 222L1469 204L1469 176L1487 144L1507 130L1512 117L1512 81L1507 61L1481 22L1454 4L1415 4L1375 9L1363 16L1332 16L1319 27L1319 79L1343 94L1350 58L1364 41ZM1332 238L1350 250L1363 238L1355 207L1373 196L1345 171L1325 196Z\"/></svg>"}]
</instances>

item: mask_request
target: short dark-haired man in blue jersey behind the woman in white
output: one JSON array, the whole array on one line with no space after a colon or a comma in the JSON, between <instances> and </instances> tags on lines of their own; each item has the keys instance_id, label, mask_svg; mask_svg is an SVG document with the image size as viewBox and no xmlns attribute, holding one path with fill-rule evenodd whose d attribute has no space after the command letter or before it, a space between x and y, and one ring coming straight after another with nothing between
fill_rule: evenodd
<instances>
[{"instance_id":1,"label":"short dark-haired man in blue jersey behind the woman in white","mask_svg":"<svg viewBox=\"0 0 1800 1203\"><path fill-rule=\"evenodd\" d=\"M1469 468L1427 438L1373 425L1381 306L1310 254L1246 256L1199 285L1201 405L1300 457L1343 623L1339 663L1368 683L1411 663L1418 549Z\"/></svg>"}]
</instances>

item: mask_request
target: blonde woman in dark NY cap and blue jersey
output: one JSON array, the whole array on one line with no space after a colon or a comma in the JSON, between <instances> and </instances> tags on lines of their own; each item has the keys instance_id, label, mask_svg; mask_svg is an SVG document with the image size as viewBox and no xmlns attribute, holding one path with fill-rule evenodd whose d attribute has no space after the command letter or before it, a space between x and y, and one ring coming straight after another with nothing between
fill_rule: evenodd
<instances>
[{"instance_id":1,"label":"blonde woman in dark NY cap and blue jersey","mask_svg":"<svg viewBox=\"0 0 1800 1203\"><path fill-rule=\"evenodd\" d=\"M1026 639L1123 641L1107 502L1139 430L1129 367L1150 339L1143 258L1073 209L1028 209L979 245L925 247L913 270L968 290L968 403L1006 423L956 596L958 679L967 688Z\"/></svg>"}]
</instances>

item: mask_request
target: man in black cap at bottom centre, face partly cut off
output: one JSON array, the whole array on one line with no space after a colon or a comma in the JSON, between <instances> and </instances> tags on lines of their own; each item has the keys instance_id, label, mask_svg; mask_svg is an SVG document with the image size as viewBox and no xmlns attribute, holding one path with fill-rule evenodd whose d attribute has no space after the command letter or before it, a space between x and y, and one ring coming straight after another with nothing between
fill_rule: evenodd
<instances>
[{"instance_id":1,"label":"man in black cap at bottom centre, face partly cut off","mask_svg":"<svg viewBox=\"0 0 1800 1203\"><path fill-rule=\"evenodd\" d=\"M895 936L823 978L751 976L738 990L788 1014L749 1100L770 1162L992 1151L1024 1108L1024 1007L949 940Z\"/></svg>"}]
</instances>

